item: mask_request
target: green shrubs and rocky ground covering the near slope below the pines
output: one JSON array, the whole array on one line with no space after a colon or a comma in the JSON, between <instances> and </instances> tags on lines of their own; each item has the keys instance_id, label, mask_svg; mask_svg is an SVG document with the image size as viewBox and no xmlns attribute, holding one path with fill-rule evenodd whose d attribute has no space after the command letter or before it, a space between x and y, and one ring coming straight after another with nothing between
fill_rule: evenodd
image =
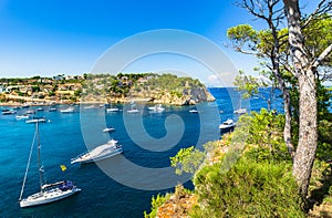
<instances>
[{"instance_id":1,"label":"green shrubs and rocky ground covering the near slope below the pines","mask_svg":"<svg viewBox=\"0 0 332 218\"><path fill-rule=\"evenodd\" d=\"M176 174L194 173L195 189L181 191L180 200L172 194L159 196L158 206L145 217L331 216L331 166L315 159L309 200L304 200L282 139L283 121L283 115L266 110L251 112L240 117L234 133L207 143L204 150L180 149L170 165ZM175 190L178 195L178 187Z\"/></svg>"}]
</instances>

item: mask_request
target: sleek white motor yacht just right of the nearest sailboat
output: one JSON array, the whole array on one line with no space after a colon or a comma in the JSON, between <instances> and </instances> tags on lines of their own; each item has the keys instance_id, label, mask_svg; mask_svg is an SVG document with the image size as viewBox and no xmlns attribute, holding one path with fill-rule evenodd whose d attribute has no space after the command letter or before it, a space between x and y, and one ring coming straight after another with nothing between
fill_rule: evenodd
<instances>
[{"instance_id":1,"label":"sleek white motor yacht just right of the nearest sailboat","mask_svg":"<svg viewBox=\"0 0 332 218\"><path fill-rule=\"evenodd\" d=\"M117 141L111 139L104 145L100 145L92 149L91 152L79 155L75 158L71 159L71 164L80 163L92 163L102 160L115 155L123 153L122 146L117 144Z\"/></svg>"}]
</instances>

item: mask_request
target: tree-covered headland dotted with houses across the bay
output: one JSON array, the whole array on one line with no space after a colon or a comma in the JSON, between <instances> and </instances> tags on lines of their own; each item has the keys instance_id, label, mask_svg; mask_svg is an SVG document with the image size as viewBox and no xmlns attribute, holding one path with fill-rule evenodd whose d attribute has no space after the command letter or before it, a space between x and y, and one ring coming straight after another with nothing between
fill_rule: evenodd
<instances>
[{"instance_id":1,"label":"tree-covered headland dotted with houses across the bay","mask_svg":"<svg viewBox=\"0 0 332 218\"><path fill-rule=\"evenodd\" d=\"M3 103L124 103L133 100L186 105L215 98L198 80L172 74L118 73L58 75L53 79L0 79L0 101Z\"/></svg>"}]
</instances>

